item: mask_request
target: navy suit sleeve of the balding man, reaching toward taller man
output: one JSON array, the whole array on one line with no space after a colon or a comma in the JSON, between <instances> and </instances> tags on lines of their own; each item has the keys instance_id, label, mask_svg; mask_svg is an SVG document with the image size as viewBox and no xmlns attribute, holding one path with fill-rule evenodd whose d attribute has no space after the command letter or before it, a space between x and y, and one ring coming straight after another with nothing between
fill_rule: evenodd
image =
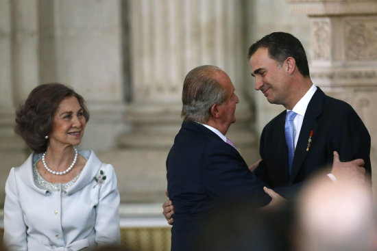
<instances>
[{"instance_id":1,"label":"navy suit sleeve of the balding man, reaching toward taller man","mask_svg":"<svg viewBox=\"0 0 377 251\"><path fill-rule=\"evenodd\" d=\"M202 174L208 194L225 203L239 201L268 204L271 198L263 191L265 183L247 168L241 155L219 140L208 144L202 155Z\"/></svg>"}]
</instances>

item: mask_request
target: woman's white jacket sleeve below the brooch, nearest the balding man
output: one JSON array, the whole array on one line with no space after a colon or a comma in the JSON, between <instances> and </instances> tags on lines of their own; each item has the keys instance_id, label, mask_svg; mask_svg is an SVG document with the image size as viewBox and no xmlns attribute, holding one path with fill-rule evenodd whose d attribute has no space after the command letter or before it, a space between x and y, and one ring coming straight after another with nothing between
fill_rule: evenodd
<instances>
[{"instance_id":1,"label":"woman's white jacket sleeve below the brooch, nearest the balding man","mask_svg":"<svg viewBox=\"0 0 377 251\"><path fill-rule=\"evenodd\" d=\"M114 168L107 164L106 180L99 191L97 219L95 221L95 242L99 245L119 243L119 191Z\"/></svg>"}]
</instances>

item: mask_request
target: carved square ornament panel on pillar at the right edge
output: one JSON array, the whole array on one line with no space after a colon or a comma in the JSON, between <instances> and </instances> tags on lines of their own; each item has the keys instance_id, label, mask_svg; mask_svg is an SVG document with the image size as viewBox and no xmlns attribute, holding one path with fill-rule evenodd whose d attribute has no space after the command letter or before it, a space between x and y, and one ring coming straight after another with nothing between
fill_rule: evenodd
<instances>
[{"instance_id":1,"label":"carved square ornament panel on pillar at the right edge","mask_svg":"<svg viewBox=\"0 0 377 251\"><path fill-rule=\"evenodd\" d=\"M377 18L345 21L345 58L377 59Z\"/></svg>"}]
</instances>

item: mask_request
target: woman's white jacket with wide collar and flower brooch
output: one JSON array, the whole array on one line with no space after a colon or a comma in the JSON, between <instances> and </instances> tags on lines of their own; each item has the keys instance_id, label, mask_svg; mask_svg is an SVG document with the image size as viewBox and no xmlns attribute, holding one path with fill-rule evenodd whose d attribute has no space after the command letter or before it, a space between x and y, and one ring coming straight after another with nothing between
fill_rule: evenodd
<instances>
[{"instance_id":1,"label":"woman's white jacket with wide collar and flower brooch","mask_svg":"<svg viewBox=\"0 0 377 251\"><path fill-rule=\"evenodd\" d=\"M5 183L4 244L8 250L90 250L119 243L119 191L110 164L93 151L71 187L49 191L36 186L32 154L12 168ZM106 179L93 179L104 171ZM97 185L96 185L97 184Z\"/></svg>"}]
</instances>

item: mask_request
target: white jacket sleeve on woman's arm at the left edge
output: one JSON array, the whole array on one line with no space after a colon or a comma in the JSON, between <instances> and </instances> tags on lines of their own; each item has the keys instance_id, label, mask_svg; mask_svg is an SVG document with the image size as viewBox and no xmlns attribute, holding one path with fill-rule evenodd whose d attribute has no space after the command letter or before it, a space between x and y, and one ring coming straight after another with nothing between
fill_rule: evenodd
<instances>
[{"instance_id":1,"label":"white jacket sleeve on woman's arm at the left edge","mask_svg":"<svg viewBox=\"0 0 377 251\"><path fill-rule=\"evenodd\" d=\"M12 168L5 183L4 244L7 250L27 250L26 224L19 202L15 170Z\"/></svg>"}]
</instances>

